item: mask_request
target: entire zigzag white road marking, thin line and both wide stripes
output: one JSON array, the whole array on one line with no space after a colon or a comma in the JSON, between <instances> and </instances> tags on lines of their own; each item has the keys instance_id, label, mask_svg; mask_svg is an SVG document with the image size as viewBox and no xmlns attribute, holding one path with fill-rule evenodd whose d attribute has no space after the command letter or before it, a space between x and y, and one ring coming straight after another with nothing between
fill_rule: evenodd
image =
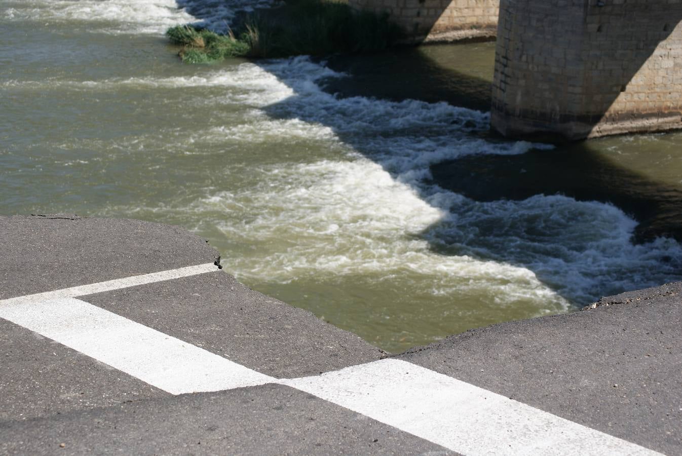
<instances>
[{"instance_id":1,"label":"entire zigzag white road marking, thin line and both wide stripes","mask_svg":"<svg viewBox=\"0 0 682 456\"><path fill-rule=\"evenodd\" d=\"M465 455L660 455L397 359L278 380L76 299L214 271L200 264L5 299L0 318L171 394L283 384Z\"/></svg>"}]
</instances>

